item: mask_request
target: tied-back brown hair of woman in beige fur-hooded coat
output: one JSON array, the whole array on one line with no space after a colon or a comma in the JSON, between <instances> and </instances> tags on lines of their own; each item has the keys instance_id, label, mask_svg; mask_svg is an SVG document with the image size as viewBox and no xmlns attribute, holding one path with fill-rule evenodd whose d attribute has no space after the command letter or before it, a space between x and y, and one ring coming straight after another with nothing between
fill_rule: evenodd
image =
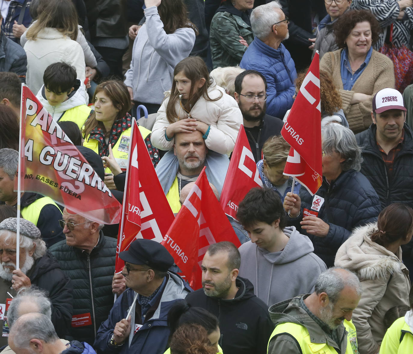
<instances>
[{"instance_id":1,"label":"tied-back brown hair of woman in beige fur-hooded coat","mask_svg":"<svg viewBox=\"0 0 413 354\"><path fill-rule=\"evenodd\" d=\"M402 203L393 203L384 208L377 219L377 230L371 241L387 246L413 233L413 209Z\"/></svg>"}]
</instances>

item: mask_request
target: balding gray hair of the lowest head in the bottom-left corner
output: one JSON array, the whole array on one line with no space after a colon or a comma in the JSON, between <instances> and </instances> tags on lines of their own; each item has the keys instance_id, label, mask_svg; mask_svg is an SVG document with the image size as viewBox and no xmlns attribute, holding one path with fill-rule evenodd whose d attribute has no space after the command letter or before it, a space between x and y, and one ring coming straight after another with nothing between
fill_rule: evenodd
<instances>
[{"instance_id":1,"label":"balding gray hair of the lowest head in the bottom-left corner","mask_svg":"<svg viewBox=\"0 0 413 354\"><path fill-rule=\"evenodd\" d=\"M19 349L30 348L32 339L54 343L59 340L50 317L40 313L30 313L20 316L10 328L9 340L12 337L14 346Z\"/></svg>"}]
</instances>

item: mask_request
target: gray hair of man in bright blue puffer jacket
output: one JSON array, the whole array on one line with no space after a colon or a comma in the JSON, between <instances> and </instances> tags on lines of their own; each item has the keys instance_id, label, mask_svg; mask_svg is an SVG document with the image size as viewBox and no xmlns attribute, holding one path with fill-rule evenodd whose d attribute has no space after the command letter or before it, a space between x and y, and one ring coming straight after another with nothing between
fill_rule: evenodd
<instances>
[{"instance_id":1,"label":"gray hair of man in bright blue puffer jacket","mask_svg":"<svg viewBox=\"0 0 413 354\"><path fill-rule=\"evenodd\" d=\"M276 9L282 9L278 1L268 2L252 10L250 17L252 32L260 40L267 38L273 24L281 20L280 12L275 11Z\"/></svg>"}]
</instances>

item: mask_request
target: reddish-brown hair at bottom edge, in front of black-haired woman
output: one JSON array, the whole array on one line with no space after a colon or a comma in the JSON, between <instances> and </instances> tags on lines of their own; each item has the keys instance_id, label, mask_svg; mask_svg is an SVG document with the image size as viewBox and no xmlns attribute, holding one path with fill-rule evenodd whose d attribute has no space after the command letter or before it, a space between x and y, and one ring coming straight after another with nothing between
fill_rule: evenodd
<instances>
[{"instance_id":1,"label":"reddish-brown hair at bottom edge, in front of black-haired woman","mask_svg":"<svg viewBox=\"0 0 413 354\"><path fill-rule=\"evenodd\" d=\"M185 323L173 333L171 354L216 354L207 330L199 324Z\"/></svg>"}]
</instances>

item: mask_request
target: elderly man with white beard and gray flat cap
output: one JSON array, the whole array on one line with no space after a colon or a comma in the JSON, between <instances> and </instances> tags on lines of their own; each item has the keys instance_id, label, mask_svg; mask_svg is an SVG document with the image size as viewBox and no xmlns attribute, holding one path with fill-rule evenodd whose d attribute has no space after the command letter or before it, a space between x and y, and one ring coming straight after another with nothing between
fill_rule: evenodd
<instances>
[{"instance_id":1,"label":"elderly man with white beard and gray flat cap","mask_svg":"<svg viewBox=\"0 0 413 354\"><path fill-rule=\"evenodd\" d=\"M39 229L20 218L19 269L17 269L17 218L0 223L0 346L7 345L7 309L19 291L31 285L48 292L52 303L52 323L59 337L69 330L72 314L72 288L57 260L47 252Z\"/></svg>"}]
</instances>

